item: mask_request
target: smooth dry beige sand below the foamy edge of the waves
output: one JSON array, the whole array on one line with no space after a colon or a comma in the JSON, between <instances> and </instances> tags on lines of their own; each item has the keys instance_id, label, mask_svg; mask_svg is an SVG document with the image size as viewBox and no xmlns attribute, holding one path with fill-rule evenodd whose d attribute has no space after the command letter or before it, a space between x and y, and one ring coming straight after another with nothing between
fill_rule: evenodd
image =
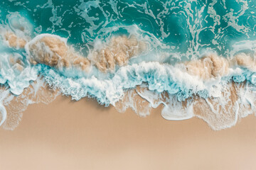
<instances>
[{"instance_id":1,"label":"smooth dry beige sand below the foamy edge of the waves","mask_svg":"<svg viewBox=\"0 0 256 170\"><path fill-rule=\"evenodd\" d=\"M203 120L118 113L59 96L29 106L14 131L0 130L0 169L256 169L256 118L213 131Z\"/></svg>"}]
</instances>

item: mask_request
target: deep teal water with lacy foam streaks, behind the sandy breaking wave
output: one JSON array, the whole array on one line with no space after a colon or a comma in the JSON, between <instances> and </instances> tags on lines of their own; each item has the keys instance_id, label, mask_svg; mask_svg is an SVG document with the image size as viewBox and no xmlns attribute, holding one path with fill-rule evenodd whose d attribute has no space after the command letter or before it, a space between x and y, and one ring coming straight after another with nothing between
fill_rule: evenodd
<instances>
[{"instance_id":1,"label":"deep teal water with lacy foam streaks, behind the sandy breaking wave","mask_svg":"<svg viewBox=\"0 0 256 170\"><path fill-rule=\"evenodd\" d=\"M228 55L235 42L256 36L256 1L1 1L1 23L16 12L31 22L33 35L61 35L85 53L96 38L129 34L131 27L159 40L157 50L188 58L208 48Z\"/></svg>"}]
</instances>

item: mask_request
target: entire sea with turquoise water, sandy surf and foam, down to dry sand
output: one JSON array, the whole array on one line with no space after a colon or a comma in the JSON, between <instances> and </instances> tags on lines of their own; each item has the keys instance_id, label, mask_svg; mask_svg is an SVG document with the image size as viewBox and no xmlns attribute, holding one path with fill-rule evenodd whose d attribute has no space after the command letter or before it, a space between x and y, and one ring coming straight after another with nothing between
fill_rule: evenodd
<instances>
[{"instance_id":1,"label":"entire sea with turquoise water, sandy surf and foam, down to dry sand","mask_svg":"<svg viewBox=\"0 0 256 170\"><path fill-rule=\"evenodd\" d=\"M255 113L255 12L254 0L1 1L0 125L63 94L230 128Z\"/></svg>"}]
</instances>

